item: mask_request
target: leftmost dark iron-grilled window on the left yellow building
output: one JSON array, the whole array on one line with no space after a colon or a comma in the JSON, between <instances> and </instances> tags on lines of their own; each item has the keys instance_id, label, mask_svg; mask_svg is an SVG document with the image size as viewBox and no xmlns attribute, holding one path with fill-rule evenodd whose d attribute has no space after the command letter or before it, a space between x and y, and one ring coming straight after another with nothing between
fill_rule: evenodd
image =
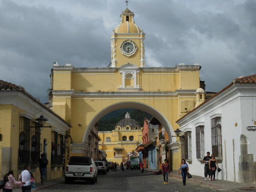
<instances>
[{"instance_id":1,"label":"leftmost dark iron-grilled window on the left yellow building","mask_svg":"<svg viewBox=\"0 0 256 192\"><path fill-rule=\"evenodd\" d=\"M20 117L19 164L29 164L30 160L30 119Z\"/></svg>"}]
</instances>

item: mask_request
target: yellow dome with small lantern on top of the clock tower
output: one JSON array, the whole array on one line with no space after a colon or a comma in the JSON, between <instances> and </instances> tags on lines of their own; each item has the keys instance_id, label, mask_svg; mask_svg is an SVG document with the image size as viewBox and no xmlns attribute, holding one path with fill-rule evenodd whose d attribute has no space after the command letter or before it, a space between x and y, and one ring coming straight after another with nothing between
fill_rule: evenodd
<instances>
[{"instance_id":1,"label":"yellow dome with small lantern on top of the clock tower","mask_svg":"<svg viewBox=\"0 0 256 192\"><path fill-rule=\"evenodd\" d=\"M116 33L140 33L142 30L134 22L134 12L126 8L120 15L121 23L116 26Z\"/></svg>"}]
</instances>

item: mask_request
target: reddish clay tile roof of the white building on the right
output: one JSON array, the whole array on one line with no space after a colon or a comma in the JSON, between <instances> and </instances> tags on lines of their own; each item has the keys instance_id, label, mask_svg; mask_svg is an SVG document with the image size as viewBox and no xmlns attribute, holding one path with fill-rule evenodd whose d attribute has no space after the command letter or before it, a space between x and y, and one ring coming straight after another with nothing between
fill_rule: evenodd
<instances>
[{"instance_id":1,"label":"reddish clay tile roof of the white building on the right","mask_svg":"<svg viewBox=\"0 0 256 192\"><path fill-rule=\"evenodd\" d=\"M218 96L219 94L221 94L222 92L224 92L225 90L227 90L228 88L230 88L233 84L251 84L254 83L256 84L256 74L251 75L251 76L244 76L244 77L239 77L237 79L233 79L232 83L230 83L227 87L224 87L222 90L220 90L218 93L215 93L213 96L209 97L208 99L206 99L204 102L202 102L200 105L198 105L196 108L194 108L192 111L189 111L189 113L186 113L186 115L180 117L180 119L178 119L176 121L176 123L178 121L180 121L181 119L183 119L185 116L188 116L190 113L192 113L193 111L197 110L198 108L200 108L202 105L204 105L205 103L207 103L209 100L215 98L216 96Z\"/></svg>"}]
</instances>

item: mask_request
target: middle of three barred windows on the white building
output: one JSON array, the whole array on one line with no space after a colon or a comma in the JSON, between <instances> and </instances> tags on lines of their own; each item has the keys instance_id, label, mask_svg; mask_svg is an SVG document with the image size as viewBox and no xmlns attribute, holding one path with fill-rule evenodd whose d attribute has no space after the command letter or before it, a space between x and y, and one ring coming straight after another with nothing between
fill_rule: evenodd
<instances>
[{"instance_id":1,"label":"middle of three barred windows on the white building","mask_svg":"<svg viewBox=\"0 0 256 192\"><path fill-rule=\"evenodd\" d=\"M204 126L195 127L196 158L204 157Z\"/></svg>"}]
</instances>

